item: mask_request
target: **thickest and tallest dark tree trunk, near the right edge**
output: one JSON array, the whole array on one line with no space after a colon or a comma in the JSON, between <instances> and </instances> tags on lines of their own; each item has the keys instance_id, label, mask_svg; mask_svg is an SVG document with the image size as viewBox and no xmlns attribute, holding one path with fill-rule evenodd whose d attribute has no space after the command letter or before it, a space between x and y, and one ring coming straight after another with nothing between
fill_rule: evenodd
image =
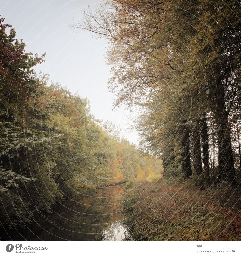
<instances>
[{"instance_id":1,"label":"thickest and tallest dark tree trunk, near the right edge","mask_svg":"<svg viewBox=\"0 0 241 256\"><path fill-rule=\"evenodd\" d=\"M214 115L218 135L218 179L227 179L233 185L235 170L231 144L230 126L224 99L224 85L219 83L217 104Z\"/></svg>"}]
</instances>

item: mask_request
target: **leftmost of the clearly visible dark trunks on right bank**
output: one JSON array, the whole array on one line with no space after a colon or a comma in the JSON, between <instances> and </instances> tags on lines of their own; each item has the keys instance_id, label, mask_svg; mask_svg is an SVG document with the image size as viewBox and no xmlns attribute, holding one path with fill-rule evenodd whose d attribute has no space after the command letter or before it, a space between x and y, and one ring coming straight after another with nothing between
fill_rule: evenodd
<instances>
[{"instance_id":1,"label":"leftmost of the clearly visible dark trunks on right bank","mask_svg":"<svg viewBox=\"0 0 241 256\"><path fill-rule=\"evenodd\" d=\"M191 160L190 160L190 140L189 140L189 127L187 125L183 126L183 136L181 138L182 143L182 171L184 179L192 176Z\"/></svg>"}]
</instances>

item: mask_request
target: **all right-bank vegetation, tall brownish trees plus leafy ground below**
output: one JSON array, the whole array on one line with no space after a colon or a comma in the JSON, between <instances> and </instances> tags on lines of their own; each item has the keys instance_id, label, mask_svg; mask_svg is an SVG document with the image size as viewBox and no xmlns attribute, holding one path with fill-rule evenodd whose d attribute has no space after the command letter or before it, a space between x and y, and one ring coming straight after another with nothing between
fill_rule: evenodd
<instances>
[{"instance_id":1,"label":"all right-bank vegetation, tall brownish trees plus leafy ground below","mask_svg":"<svg viewBox=\"0 0 241 256\"><path fill-rule=\"evenodd\" d=\"M108 40L115 106L139 107L142 147L173 181L148 210L158 192L127 188L134 239L239 239L240 11L233 0L114 0L72 25Z\"/></svg>"}]
</instances>

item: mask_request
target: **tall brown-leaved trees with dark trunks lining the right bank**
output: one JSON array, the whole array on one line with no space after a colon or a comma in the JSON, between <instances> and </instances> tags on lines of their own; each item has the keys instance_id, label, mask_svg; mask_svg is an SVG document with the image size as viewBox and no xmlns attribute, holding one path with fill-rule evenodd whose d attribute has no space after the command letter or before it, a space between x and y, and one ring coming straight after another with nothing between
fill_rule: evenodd
<instances>
[{"instance_id":1,"label":"tall brown-leaved trees with dark trunks lining the right bank","mask_svg":"<svg viewBox=\"0 0 241 256\"><path fill-rule=\"evenodd\" d=\"M108 39L109 88L142 108L136 126L166 172L236 185L240 168L238 1L110 0L75 29Z\"/></svg>"}]
</instances>

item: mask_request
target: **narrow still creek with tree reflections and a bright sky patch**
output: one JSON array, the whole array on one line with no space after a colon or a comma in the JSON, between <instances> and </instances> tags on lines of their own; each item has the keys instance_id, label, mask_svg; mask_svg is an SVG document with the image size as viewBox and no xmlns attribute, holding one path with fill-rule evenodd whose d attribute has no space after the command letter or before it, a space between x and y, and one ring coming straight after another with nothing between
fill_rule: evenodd
<instances>
[{"instance_id":1,"label":"narrow still creek with tree reflections and a bright sky patch","mask_svg":"<svg viewBox=\"0 0 241 256\"><path fill-rule=\"evenodd\" d=\"M75 199L57 202L49 214L38 211L24 229L10 231L17 241L121 241L128 231L122 220L123 184L81 191ZM17 232L16 232L17 231Z\"/></svg>"}]
</instances>

